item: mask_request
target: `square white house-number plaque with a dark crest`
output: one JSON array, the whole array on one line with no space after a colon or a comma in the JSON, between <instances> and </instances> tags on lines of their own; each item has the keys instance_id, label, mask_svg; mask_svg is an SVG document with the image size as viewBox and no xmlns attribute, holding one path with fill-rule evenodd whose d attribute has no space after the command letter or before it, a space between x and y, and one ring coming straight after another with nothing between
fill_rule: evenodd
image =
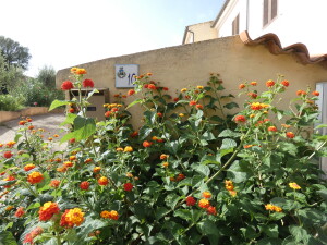
<instances>
[{"instance_id":1,"label":"square white house-number plaque with a dark crest","mask_svg":"<svg viewBox=\"0 0 327 245\"><path fill-rule=\"evenodd\" d=\"M116 87L134 87L134 76L138 76L138 64L116 64Z\"/></svg>"}]
</instances>

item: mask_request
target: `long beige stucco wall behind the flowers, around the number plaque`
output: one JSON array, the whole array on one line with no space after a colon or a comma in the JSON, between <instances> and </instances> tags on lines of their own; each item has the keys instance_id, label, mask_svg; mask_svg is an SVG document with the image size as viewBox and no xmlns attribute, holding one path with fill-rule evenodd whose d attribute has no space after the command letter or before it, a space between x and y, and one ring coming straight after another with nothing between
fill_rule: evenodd
<instances>
[{"instance_id":1,"label":"long beige stucco wall behind the flowers, around the number plaque","mask_svg":"<svg viewBox=\"0 0 327 245\"><path fill-rule=\"evenodd\" d=\"M189 85L204 85L209 73L220 73L226 93L235 96L239 94L238 85L242 82L256 81L261 91L265 89L267 79L276 79L277 74L283 74L290 81L290 87L284 93L282 105L288 105L298 89L306 89L307 85L314 88L315 83L327 81L326 66L303 65L294 54L274 56L263 45L245 46L239 36L232 36L76 65L87 70L86 77L92 78L96 87L109 88L111 102L114 101L114 94L128 91L114 87L114 64L140 64L140 74L152 72L153 79L169 87L172 97L177 89ZM70 68L60 70L57 86L60 87L69 75ZM129 97L126 102L131 102L133 98ZM241 106L242 100L237 100ZM137 110L137 106L131 108L134 125L141 123Z\"/></svg>"}]
</instances>

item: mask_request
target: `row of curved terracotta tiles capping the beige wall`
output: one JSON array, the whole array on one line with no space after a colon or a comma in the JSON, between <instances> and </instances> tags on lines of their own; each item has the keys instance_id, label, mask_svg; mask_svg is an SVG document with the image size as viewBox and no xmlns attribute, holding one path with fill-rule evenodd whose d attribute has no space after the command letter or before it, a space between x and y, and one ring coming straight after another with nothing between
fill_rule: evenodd
<instances>
[{"instance_id":1,"label":"row of curved terracotta tiles capping the beige wall","mask_svg":"<svg viewBox=\"0 0 327 245\"><path fill-rule=\"evenodd\" d=\"M293 53L303 64L314 64L319 62L327 63L327 53L310 56L306 46L300 42L282 47L278 36L272 33L265 34L253 40L249 36L249 33L245 30L240 34L240 38L244 45L265 45L274 54Z\"/></svg>"}]
</instances>

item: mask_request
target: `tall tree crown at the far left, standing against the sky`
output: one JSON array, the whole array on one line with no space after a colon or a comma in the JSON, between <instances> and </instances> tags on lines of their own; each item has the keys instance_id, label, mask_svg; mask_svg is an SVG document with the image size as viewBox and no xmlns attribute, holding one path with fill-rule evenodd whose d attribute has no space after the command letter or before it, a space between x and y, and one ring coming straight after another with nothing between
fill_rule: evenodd
<instances>
[{"instance_id":1,"label":"tall tree crown at the far left, standing against the sky","mask_svg":"<svg viewBox=\"0 0 327 245\"><path fill-rule=\"evenodd\" d=\"M32 58L28 48L21 46L17 41L10 38L0 36L0 49L9 65L27 70L29 59Z\"/></svg>"}]
</instances>

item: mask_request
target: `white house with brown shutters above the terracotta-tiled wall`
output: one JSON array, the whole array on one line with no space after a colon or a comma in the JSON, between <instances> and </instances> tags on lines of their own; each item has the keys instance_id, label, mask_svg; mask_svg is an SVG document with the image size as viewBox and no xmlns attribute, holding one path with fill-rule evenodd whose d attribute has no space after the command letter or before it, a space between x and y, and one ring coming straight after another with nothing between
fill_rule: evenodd
<instances>
[{"instance_id":1,"label":"white house with brown shutters above the terracotta-tiled wall","mask_svg":"<svg viewBox=\"0 0 327 245\"><path fill-rule=\"evenodd\" d=\"M327 0L226 0L211 22L187 26L183 44L237 35L276 34L282 47L304 44L311 54L327 52Z\"/></svg>"}]
</instances>

